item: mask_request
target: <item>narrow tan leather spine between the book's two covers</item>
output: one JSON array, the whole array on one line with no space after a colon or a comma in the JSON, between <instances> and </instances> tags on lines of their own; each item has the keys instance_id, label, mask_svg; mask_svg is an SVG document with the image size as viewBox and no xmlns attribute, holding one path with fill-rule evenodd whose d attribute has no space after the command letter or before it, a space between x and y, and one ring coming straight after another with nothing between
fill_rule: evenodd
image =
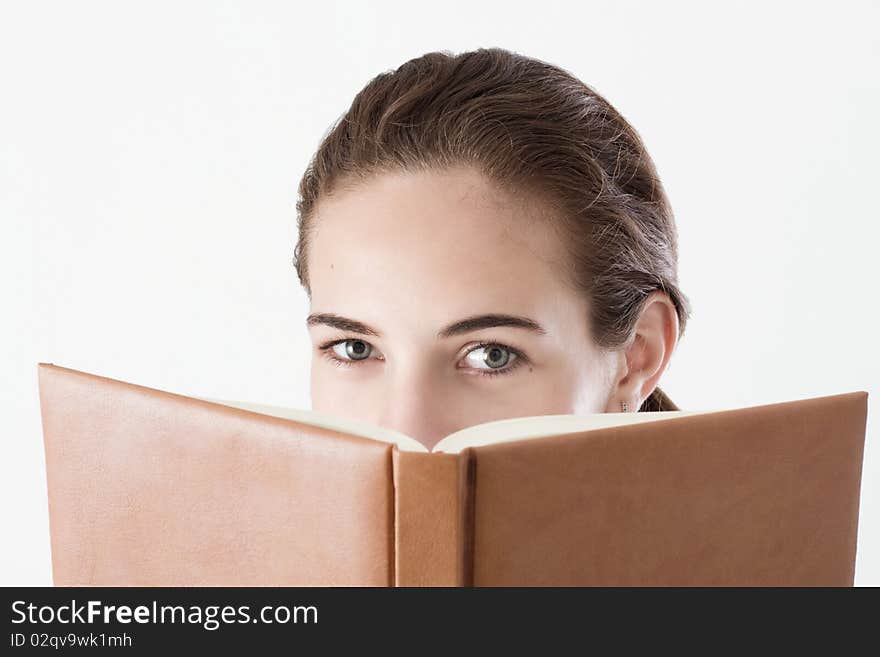
<instances>
[{"instance_id":1,"label":"narrow tan leather spine between the book's two covers","mask_svg":"<svg viewBox=\"0 0 880 657\"><path fill-rule=\"evenodd\" d=\"M470 460L465 453L394 448L394 586L471 581Z\"/></svg>"}]
</instances>

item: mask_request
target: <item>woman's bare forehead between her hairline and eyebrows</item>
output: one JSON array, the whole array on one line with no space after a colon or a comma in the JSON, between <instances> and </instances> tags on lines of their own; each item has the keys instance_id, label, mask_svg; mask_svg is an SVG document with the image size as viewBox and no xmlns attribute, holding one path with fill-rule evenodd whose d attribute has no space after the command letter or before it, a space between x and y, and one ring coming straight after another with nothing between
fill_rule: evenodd
<instances>
[{"instance_id":1,"label":"woman's bare forehead between her hairline and eyebrows","mask_svg":"<svg viewBox=\"0 0 880 657\"><path fill-rule=\"evenodd\" d=\"M313 307L418 310L446 322L471 312L535 312L564 287L549 212L473 169L382 174L322 199L309 251ZM372 309L372 312L370 312Z\"/></svg>"}]
</instances>

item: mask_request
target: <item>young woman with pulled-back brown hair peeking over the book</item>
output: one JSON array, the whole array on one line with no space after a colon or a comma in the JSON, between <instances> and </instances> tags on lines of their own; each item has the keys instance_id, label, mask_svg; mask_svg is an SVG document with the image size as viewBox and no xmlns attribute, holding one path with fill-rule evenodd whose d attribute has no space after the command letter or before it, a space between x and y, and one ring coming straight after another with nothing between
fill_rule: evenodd
<instances>
[{"instance_id":1,"label":"young woman with pulled-back brown hair peeking over the book","mask_svg":"<svg viewBox=\"0 0 880 657\"><path fill-rule=\"evenodd\" d=\"M636 131L563 69L500 48L371 80L299 186L312 408L429 448L525 415L676 410L690 303Z\"/></svg>"}]
</instances>

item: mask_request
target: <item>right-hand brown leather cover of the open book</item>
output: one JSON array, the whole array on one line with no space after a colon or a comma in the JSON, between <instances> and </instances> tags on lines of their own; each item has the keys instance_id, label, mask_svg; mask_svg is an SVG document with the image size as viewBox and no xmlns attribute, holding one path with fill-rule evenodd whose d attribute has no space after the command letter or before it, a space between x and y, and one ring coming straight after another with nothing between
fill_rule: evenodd
<instances>
[{"instance_id":1,"label":"right-hand brown leather cover of the open book","mask_svg":"<svg viewBox=\"0 0 880 657\"><path fill-rule=\"evenodd\" d=\"M476 586L852 586L867 392L476 447Z\"/></svg>"}]
</instances>

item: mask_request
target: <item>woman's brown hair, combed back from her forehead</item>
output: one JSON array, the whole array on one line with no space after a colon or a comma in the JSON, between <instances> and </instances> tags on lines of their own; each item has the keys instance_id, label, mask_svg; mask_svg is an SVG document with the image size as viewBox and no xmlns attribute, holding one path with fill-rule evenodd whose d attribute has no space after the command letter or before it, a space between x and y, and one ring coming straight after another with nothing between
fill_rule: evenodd
<instances>
[{"instance_id":1,"label":"woman's brown hair, combed back from her forehead","mask_svg":"<svg viewBox=\"0 0 880 657\"><path fill-rule=\"evenodd\" d=\"M669 296L684 334L691 309L678 287L675 220L640 136L571 73L502 48L430 52L355 96L299 184L293 261L306 293L320 198L385 172L454 166L552 210L567 282L589 299L585 319L600 348L628 342L654 290ZM655 387L639 410L670 406Z\"/></svg>"}]
</instances>

